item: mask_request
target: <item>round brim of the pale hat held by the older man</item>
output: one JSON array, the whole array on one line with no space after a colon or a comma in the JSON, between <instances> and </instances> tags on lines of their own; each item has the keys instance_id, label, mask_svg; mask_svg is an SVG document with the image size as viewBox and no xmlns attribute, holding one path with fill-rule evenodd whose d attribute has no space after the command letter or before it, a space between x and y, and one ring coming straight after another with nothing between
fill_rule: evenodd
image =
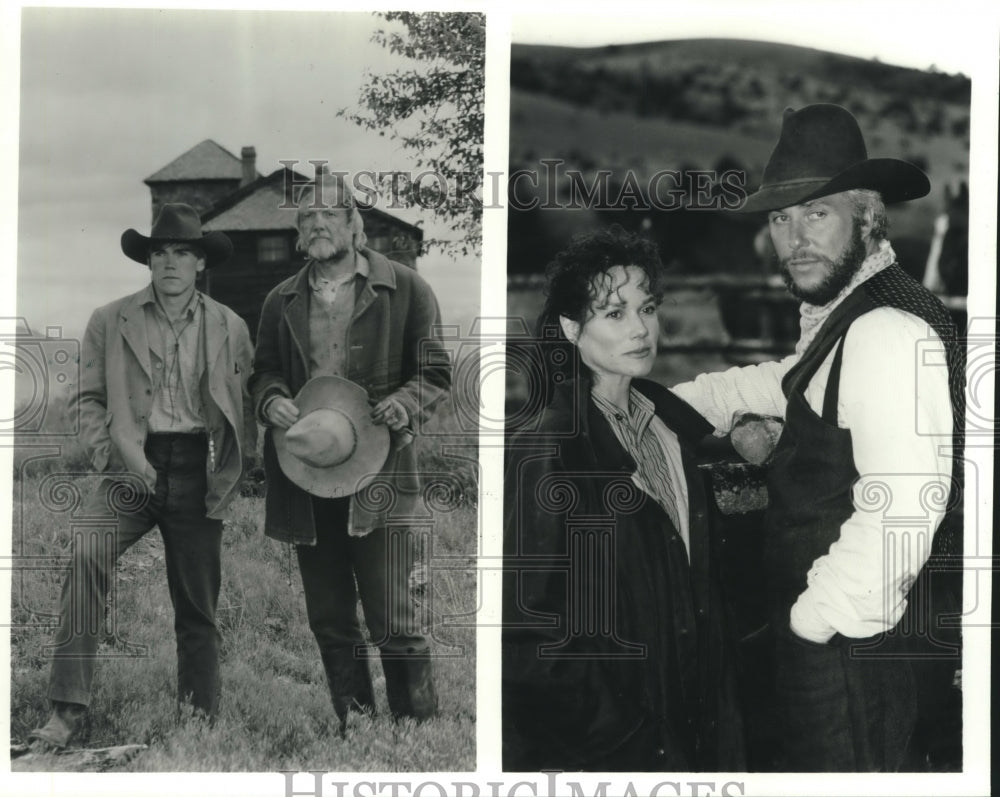
<instances>
[{"instance_id":1,"label":"round brim of the pale hat held by the older man","mask_svg":"<svg viewBox=\"0 0 1000 797\"><path fill-rule=\"evenodd\" d=\"M354 495L374 479L389 457L389 430L372 423L367 391L339 376L317 376L303 385L295 397L299 417L313 410L338 410L354 424L357 446L354 453L339 465L318 468L288 451L284 429L274 430L274 448L282 472L307 493L321 498Z\"/></svg>"}]
</instances>

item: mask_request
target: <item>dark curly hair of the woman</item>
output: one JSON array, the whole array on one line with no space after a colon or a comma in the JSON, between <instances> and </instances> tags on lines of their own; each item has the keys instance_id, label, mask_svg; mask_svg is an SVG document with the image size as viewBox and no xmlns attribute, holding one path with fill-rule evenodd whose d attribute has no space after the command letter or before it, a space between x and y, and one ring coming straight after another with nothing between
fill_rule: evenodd
<instances>
[{"instance_id":1,"label":"dark curly hair of the woman","mask_svg":"<svg viewBox=\"0 0 1000 797\"><path fill-rule=\"evenodd\" d=\"M595 286L602 282L601 275L615 266L642 269L649 293L657 301L663 297L663 264L656 244L618 224L574 237L546 267L545 307L536 325L545 374L544 403L551 400L556 384L574 376L589 378L590 370L576 346L566 340L559 317L582 326L598 298Z\"/></svg>"}]
</instances>

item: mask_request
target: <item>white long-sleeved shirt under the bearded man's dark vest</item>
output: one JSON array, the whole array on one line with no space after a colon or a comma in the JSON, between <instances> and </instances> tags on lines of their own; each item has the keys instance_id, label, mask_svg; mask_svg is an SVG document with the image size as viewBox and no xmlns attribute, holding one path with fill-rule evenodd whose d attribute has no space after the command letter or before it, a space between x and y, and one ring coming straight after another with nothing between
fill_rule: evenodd
<instances>
[{"instance_id":1,"label":"white long-sleeved shirt under the bearded man's dark vest","mask_svg":"<svg viewBox=\"0 0 1000 797\"><path fill-rule=\"evenodd\" d=\"M835 351L835 350L834 350ZM817 414L834 357L809 382ZM944 344L926 322L883 307L855 320L844 342L837 425L851 430L854 512L829 553L813 562L807 588L791 610L792 630L814 642L839 632L862 638L888 630L906 608L906 592L930 555L951 485L952 408ZM674 392L717 433L734 413L785 415L781 379L798 361L702 374Z\"/></svg>"}]
</instances>

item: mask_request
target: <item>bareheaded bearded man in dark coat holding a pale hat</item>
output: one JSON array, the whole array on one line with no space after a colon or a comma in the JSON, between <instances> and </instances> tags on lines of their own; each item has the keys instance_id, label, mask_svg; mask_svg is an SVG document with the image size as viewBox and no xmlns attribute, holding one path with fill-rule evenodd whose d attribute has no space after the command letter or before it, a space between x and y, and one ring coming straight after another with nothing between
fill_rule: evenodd
<instances>
[{"instance_id":1,"label":"bareheaded bearded man in dark coat holding a pale hat","mask_svg":"<svg viewBox=\"0 0 1000 797\"><path fill-rule=\"evenodd\" d=\"M438 303L416 271L365 246L342 176L304 188L297 227L308 259L264 301L250 379L267 427L265 533L296 547L341 732L349 711L374 711L359 597L393 716L425 720L437 695L409 592L407 520L420 490L414 433L451 384ZM348 409L357 391L369 418Z\"/></svg>"}]
</instances>

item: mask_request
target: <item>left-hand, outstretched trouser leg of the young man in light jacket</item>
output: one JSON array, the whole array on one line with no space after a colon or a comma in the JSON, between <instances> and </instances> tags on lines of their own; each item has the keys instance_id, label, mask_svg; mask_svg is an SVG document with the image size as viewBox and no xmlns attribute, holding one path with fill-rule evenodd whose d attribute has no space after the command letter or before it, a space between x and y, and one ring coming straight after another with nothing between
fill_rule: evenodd
<instances>
[{"instance_id":1,"label":"left-hand, outstretched trouser leg of the young man in light jacket","mask_svg":"<svg viewBox=\"0 0 1000 797\"><path fill-rule=\"evenodd\" d=\"M115 517L108 506L109 492L118 489L115 485L110 479L102 480L85 504L86 516L106 515L107 524L74 530L59 601L59 627L53 641L48 692L51 700L90 705L107 594L114 588L115 563L154 525L155 498L146 494L139 495L137 503L141 506L136 511L119 512Z\"/></svg>"}]
</instances>

